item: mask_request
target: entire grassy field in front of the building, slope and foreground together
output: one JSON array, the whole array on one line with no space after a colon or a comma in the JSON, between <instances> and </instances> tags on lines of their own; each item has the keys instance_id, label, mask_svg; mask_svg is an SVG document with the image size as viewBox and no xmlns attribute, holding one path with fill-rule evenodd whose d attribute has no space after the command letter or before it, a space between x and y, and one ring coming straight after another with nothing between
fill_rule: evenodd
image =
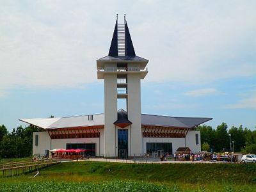
<instances>
[{"instance_id":1,"label":"entire grassy field in front of the building, slope and foreground together","mask_svg":"<svg viewBox=\"0 0 256 192\"><path fill-rule=\"evenodd\" d=\"M256 164L70 162L0 179L0 191L256 191ZM15 190L14 190L15 191Z\"/></svg>"}]
</instances>

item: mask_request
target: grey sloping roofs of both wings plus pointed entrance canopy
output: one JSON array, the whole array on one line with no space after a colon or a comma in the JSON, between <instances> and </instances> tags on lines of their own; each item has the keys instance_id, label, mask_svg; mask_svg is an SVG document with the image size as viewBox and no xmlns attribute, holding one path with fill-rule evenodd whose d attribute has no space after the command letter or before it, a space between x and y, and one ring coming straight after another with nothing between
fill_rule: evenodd
<instances>
[{"instance_id":1,"label":"grey sloping roofs of both wings plus pointed entrance canopy","mask_svg":"<svg viewBox=\"0 0 256 192\"><path fill-rule=\"evenodd\" d=\"M93 120L89 120L90 115L67 116L62 118L31 118L20 119L22 122L33 124L44 129L65 128L65 127L90 127L104 125L104 113L93 115ZM117 120L113 123L129 123L127 112L120 109L117 113ZM141 125L180 127L192 129L200 124L212 120L212 118L195 117L173 117L161 115L141 114Z\"/></svg>"}]
</instances>

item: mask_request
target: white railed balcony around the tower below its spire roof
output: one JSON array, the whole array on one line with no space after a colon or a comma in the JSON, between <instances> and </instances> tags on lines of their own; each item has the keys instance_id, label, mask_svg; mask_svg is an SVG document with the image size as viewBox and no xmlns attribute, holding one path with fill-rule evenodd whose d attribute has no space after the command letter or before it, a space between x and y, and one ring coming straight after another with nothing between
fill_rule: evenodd
<instances>
[{"instance_id":1,"label":"white railed balcony around the tower below its spire roof","mask_svg":"<svg viewBox=\"0 0 256 192\"><path fill-rule=\"evenodd\" d=\"M102 67L97 68L98 79L104 79L104 74L140 74L141 79L147 76L148 68L143 67Z\"/></svg>"}]
</instances>

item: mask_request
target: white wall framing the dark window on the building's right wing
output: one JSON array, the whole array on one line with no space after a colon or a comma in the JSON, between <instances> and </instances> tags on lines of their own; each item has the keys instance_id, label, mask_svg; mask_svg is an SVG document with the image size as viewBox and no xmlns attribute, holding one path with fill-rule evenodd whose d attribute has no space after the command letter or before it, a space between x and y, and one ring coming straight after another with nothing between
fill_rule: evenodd
<instances>
[{"instance_id":1,"label":"white wall framing the dark window on the building's right wing","mask_svg":"<svg viewBox=\"0 0 256 192\"><path fill-rule=\"evenodd\" d=\"M179 147L185 147L184 138L143 138L143 154L147 153L147 143L172 143L172 153Z\"/></svg>"}]
</instances>

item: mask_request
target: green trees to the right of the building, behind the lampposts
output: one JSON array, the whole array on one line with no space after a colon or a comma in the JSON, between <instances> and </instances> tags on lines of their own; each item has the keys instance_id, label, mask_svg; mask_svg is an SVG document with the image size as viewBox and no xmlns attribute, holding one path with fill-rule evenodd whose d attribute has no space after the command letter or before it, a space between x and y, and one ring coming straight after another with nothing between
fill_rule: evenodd
<instances>
[{"instance_id":1,"label":"green trees to the right of the building, behind the lampposts","mask_svg":"<svg viewBox=\"0 0 256 192\"><path fill-rule=\"evenodd\" d=\"M256 154L256 131L232 126L228 129L228 125L222 123L216 129L212 129L209 125L201 125L196 128L201 133L202 150L212 152L231 151ZM233 142L234 141L234 148Z\"/></svg>"}]
</instances>

